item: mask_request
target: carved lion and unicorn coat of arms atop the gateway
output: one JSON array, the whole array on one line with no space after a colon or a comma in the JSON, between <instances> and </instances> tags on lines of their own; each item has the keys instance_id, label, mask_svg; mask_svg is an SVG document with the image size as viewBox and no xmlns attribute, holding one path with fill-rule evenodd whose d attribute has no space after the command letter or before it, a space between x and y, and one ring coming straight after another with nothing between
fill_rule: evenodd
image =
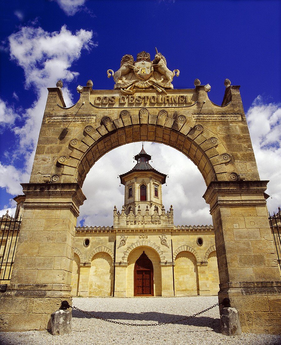
<instances>
[{"instance_id":1,"label":"carved lion and unicorn coat of arms atop the gateway","mask_svg":"<svg viewBox=\"0 0 281 345\"><path fill-rule=\"evenodd\" d=\"M125 95L133 95L136 88L156 89L159 93L166 93L165 89L173 89L173 77L180 74L178 69L170 71L165 57L158 52L157 48L154 60L150 61L150 54L142 51L134 61L132 55L126 54L121 59L120 68L114 72L107 71L107 76L113 77L114 89L120 89ZM111 73L110 73L111 72Z\"/></svg>"}]
</instances>

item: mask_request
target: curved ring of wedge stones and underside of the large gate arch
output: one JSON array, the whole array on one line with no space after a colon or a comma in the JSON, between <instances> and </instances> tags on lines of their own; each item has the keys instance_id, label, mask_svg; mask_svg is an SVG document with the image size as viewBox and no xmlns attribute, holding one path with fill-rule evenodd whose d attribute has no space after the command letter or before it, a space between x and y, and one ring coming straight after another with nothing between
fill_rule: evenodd
<instances>
[{"instance_id":1,"label":"curved ring of wedge stones and underside of the large gate arch","mask_svg":"<svg viewBox=\"0 0 281 345\"><path fill-rule=\"evenodd\" d=\"M221 164L228 163L228 168L233 170L232 164L229 164L230 155L228 155L229 159L225 160L227 156L224 155L222 158L223 155L219 154L217 150L220 140L200 124L196 124L192 128L185 123L186 120L179 124L179 121L175 119L171 126L169 116L161 126L158 125L157 119L154 121L156 124L150 124L149 120L142 123L140 118L136 123L136 119L133 121L130 117L128 117L127 122L123 121L123 123L122 121L123 119L120 117L111 121L110 125L101 125L97 130L92 127L90 132L88 128L91 126L81 129L80 134L76 135L78 145L69 144L59 154L67 157L66 161L62 163L62 175L76 174L75 177L82 187L88 171L100 157L113 148L141 139L159 142L182 152L197 165L206 185L209 185L212 180L217 180L216 173L220 173ZM147 128L144 128L145 125ZM130 127L130 130L129 128L125 130L127 127ZM153 134L151 135L151 133ZM164 137L163 134L166 136Z\"/></svg>"}]
</instances>

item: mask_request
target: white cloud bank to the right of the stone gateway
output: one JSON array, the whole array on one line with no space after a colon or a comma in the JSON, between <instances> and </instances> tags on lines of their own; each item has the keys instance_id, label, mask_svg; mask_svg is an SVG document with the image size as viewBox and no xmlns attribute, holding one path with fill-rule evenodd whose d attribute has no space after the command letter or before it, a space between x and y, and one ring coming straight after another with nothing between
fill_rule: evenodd
<instances>
[{"instance_id":1,"label":"white cloud bank to the right of the stone gateway","mask_svg":"<svg viewBox=\"0 0 281 345\"><path fill-rule=\"evenodd\" d=\"M247 120L261 180L270 180L267 193L270 213L281 206L281 105L264 104L258 96Z\"/></svg>"}]
</instances>

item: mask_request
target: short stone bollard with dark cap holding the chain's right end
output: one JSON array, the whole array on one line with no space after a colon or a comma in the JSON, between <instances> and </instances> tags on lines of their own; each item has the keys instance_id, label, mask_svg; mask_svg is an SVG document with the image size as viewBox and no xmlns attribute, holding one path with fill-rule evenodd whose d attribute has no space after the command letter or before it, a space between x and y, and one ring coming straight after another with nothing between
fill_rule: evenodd
<instances>
[{"instance_id":1,"label":"short stone bollard with dark cap holding the chain's right end","mask_svg":"<svg viewBox=\"0 0 281 345\"><path fill-rule=\"evenodd\" d=\"M239 335L242 333L239 313L230 305L229 298L222 301L223 309L221 313L221 333L225 335Z\"/></svg>"}]
</instances>

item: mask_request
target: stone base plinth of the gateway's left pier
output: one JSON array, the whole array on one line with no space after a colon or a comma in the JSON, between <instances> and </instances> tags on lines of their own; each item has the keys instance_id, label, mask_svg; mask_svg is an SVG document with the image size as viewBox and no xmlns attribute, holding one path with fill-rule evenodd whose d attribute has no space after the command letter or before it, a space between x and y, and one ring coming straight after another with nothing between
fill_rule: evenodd
<instances>
[{"instance_id":1,"label":"stone base plinth of the gateway's left pier","mask_svg":"<svg viewBox=\"0 0 281 345\"><path fill-rule=\"evenodd\" d=\"M46 290L40 284L32 287L33 290L31 286L27 289L27 284L17 285L17 290L9 289L0 295L0 331L50 329L51 314L59 309L61 302L72 303L67 291Z\"/></svg>"}]
</instances>

